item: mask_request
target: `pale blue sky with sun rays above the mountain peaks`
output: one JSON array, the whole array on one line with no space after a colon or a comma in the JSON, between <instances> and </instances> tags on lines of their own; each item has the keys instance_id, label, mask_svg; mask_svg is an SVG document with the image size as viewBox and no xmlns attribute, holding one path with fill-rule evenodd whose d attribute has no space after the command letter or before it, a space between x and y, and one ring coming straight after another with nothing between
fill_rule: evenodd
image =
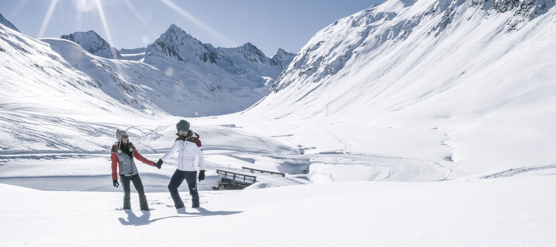
<instances>
[{"instance_id":1,"label":"pale blue sky with sun rays above the mountain peaks","mask_svg":"<svg viewBox=\"0 0 556 247\"><path fill-rule=\"evenodd\" d=\"M384 0L0 0L0 13L33 38L95 30L118 49L137 48L152 43L174 23L203 43L236 47L251 42L271 56L278 48L297 52L336 19L381 2Z\"/></svg>"}]
</instances>

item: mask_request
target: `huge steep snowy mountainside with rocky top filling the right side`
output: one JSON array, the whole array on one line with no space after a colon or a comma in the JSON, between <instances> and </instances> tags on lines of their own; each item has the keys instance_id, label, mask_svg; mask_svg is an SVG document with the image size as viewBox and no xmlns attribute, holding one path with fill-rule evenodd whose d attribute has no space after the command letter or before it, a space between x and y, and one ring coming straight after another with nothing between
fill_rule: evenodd
<instances>
[{"instance_id":1,"label":"huge steep snowy mountainside with rocky top filling the right side","mask_svg":"<svg viewBox=\"0 0 556 247\"><path fill-rule=\"evenodd\" d=\"M430 159L450 177L553 163L555 12L544 0L387 1L315 34L241 116L306 119L340 152Z\"/></svg>"}]
</instances>

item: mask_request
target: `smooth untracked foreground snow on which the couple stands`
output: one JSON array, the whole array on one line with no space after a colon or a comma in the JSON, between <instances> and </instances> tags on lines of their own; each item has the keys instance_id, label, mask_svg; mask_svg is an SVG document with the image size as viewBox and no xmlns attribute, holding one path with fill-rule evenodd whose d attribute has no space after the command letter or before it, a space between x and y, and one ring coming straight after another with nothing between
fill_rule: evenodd
<instances>
[{"instance_id":1,"label":"smooth untracked foreground snow on which the couple stands","mask_svg":"<svg viewBox=\"0 0 556 247\"><path fill-rule=\"evenodd\" d=\"M110 245L115 240L106 236L114 233L131 245L175 245L172 236L183 229L187 245L206 246L246 240L254 246L549 246L556 241L555 181L543 176L200 191L199 209L189 208L190 196L182 192L182 214L167 192L147 193L155 210L145 212L135 193L132 210L121 210L122 192L0 184L0 231L8 246ZM33 209L37 202L40 210Z\"/></svg>"}]
</instances>

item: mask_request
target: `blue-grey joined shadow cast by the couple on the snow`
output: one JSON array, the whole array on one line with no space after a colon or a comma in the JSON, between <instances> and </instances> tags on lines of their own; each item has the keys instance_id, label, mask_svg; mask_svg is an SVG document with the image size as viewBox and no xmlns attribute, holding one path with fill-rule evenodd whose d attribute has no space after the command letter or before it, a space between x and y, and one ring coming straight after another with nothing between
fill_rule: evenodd
<instances>
[{"instance_id":1,"label":"blue-grey joined shadow cast by the couple on the snow","mask_svg":"<svg viewBox=\"0 0 556 247\"><path fill-rule=\"evenodd\" d=\"M238 214L243 213L243 211L209 211L203 208L197 208L199 211L198 213L188 213L185 210L178 210L178 214L186 214L191 216L167 216L157 219L150 219L151 218L151 211L141 211L143 215L137 216L131 209L123 210L127 214L127 219L118 218L122 225L148 225L157 220L167 219L167 218L187 218L187 217L198 217L198 216L210 216L210 215L231 215L231 214Z\"/></svg>"}]
</instances>

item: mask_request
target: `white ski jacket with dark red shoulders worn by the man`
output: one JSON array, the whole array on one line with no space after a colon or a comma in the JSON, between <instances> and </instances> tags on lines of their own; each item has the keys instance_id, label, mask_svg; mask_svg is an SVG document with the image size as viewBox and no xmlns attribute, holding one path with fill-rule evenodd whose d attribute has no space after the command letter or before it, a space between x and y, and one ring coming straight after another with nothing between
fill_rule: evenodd
<instances>
[{"instance_id":1,"label":"white ski jacket with dark red shoulders worn by the man","mask_svg":"<svg viewBox=\"0 0 556 247\"><path fill-rule=\"evenodd\" d=\"M205 154L203 154L199 135L193 131L189 132L188 136L177 137L170 150L162 156L161 160L166 162L178 151L177 170L197 171L197 162L199 170L205 170Z\"/></svg>"}]
</instances>

